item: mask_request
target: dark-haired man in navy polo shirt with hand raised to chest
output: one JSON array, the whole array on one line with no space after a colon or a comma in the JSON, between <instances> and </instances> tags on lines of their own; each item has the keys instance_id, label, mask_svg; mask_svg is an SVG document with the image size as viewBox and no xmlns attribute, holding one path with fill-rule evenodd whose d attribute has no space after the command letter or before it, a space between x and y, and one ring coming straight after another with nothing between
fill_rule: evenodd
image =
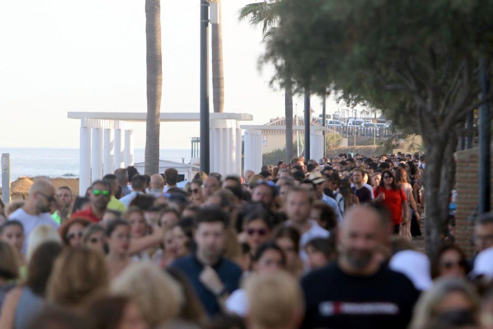
<instances>
[{"instance_id":1,"label":"dark-haired man in navy polo shirt with hand raised to chest","mask_svg":"<svg viewBox=\"0 0 493 329\"><path fill-rule=\"evenodd\" d=\"M219 209L199 210L194 234L197 251L171 264L188 277L210 316L220 313L229 294L238 289L242 275L238 265L222 256L228 221L228 216Z\"/></svg>"}]
</instances>

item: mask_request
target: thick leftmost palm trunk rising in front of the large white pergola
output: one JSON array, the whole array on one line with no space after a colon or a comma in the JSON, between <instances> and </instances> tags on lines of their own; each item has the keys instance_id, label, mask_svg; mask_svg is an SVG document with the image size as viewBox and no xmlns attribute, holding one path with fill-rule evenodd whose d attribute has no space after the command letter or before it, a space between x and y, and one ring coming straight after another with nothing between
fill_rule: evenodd
<instances>
[{"instance_id":1,"label":"thick leftmost palm trunk rising in front of the large white pergola","mask_svg":"<svg viewBox=\"0 0 493 329\"><path fill-rule=\"evenodd\" d=\"M144 173L153 175L159 172L159 124L163 85L160 0L145 0L145 39L147 120Z\"/></svg>"}]
</instances>

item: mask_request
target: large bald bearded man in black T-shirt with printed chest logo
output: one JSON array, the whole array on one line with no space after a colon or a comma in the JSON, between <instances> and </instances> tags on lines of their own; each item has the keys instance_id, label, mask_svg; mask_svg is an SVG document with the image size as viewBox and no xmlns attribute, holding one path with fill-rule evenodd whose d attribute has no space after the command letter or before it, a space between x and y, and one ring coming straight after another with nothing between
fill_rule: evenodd
<instances>
[{"instance_id":1,"label":"large bald bearded man in black T-shirt with printed chest logo","mask_svg":"<svg viewBox=\"0 0 493 329\"><path fill-rule=\"evenodd\" d=\"M369 205L346 213L340 256L302 280L307 312L302 328L407 328L418 292L376 257L387 222Z\"/></svg>"}]
</instances>

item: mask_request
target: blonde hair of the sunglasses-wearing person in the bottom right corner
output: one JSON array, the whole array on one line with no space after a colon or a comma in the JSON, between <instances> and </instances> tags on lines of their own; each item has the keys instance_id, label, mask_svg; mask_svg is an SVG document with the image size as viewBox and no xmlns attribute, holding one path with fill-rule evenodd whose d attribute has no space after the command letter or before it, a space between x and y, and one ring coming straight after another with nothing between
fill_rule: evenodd
<instances>
[{"instance_id":1,"label":"blonde hair of the sunglasses-wearing person in the bottom right corner","mask_svg":"<svg viewBox=\"0 0 493 329\"><path fill-rule=\"evenodd\" d=\"M469 299L476 312L479 307L479 296L474 287L463 279L441 278L435 281L433 287L424 292L414 307L410 329L423 329L437 315L436 307L451 292L460 292Z\"/></svg>"}]
</instances>

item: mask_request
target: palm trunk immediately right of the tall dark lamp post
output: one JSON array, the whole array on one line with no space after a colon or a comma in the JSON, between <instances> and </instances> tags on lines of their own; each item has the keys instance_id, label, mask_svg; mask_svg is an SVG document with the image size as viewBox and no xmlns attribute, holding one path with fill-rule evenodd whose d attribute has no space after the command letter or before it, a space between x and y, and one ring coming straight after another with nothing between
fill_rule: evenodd
<instances>
[{"instance_id":1,"label":"palm trunk immediately right of the tall dark lamp post","mask_svg":"<svg viewBox=\"0 0 493 329\"><path fill-rule=\"evenodd\" d=\"M218 24L212 24L212 96L214 112L224 112L224 68L222 61L221 0L217 0Z\"/></svg>"}]
</instances>

